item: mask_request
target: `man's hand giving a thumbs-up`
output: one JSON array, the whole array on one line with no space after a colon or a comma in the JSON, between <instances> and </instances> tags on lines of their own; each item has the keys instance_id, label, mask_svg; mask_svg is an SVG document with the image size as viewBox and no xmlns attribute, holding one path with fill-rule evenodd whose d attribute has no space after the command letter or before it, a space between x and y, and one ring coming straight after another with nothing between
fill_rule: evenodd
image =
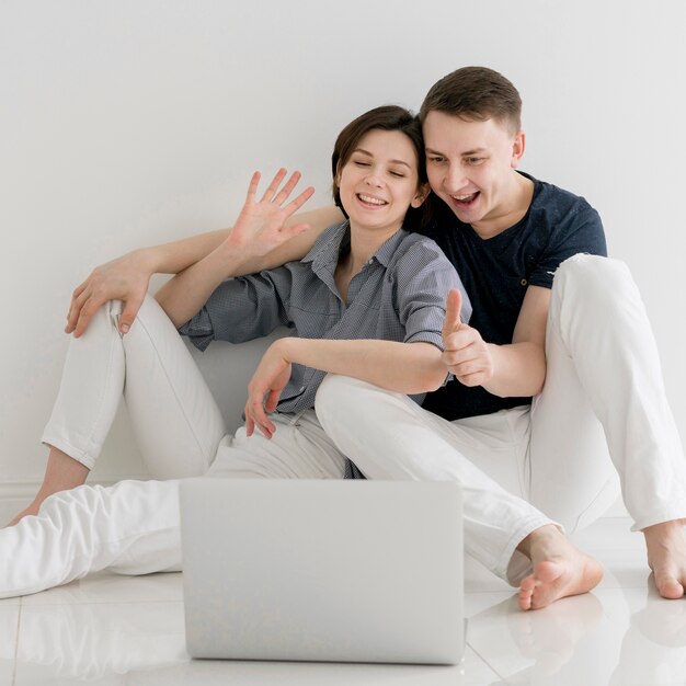
<instances>
[{"instance_id":1,"label":"man's hand giving a thumbs-up","mask_svg":"<svg viewBox=\"0 0 686 686\"><path fill-rule=\"evenodd\" d=\"M462 294L450 290L443 321L443 363L465 386L483 386L493 376L493 358L476 330L461 322Z\"/></svg>"}]
</instances>

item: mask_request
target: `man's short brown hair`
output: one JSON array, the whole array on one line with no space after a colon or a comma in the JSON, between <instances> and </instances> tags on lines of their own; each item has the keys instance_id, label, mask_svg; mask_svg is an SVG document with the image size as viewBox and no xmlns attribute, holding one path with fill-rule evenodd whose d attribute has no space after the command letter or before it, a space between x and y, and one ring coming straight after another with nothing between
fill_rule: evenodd
<instances>
[{"instance_id":1,"label":"man's short brown hair","mask_svg":"<svg viewBox=\"0 0 686 686\"><path fill-rule=\"evenodd\" d=\"M430 112L467 121L495 119L513 134L522 128L522 99L502 73L488 67L462 67L432 85L420 110L422 124Z\"/></svg>"}]
</instances>

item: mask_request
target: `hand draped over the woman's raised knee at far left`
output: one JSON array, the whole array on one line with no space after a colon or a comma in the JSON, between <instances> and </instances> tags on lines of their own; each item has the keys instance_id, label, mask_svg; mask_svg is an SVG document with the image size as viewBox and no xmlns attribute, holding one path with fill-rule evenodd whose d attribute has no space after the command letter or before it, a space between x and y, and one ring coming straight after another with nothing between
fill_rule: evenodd
<instances>
[{"instance_id":1,"label":"hand draped over the woman's raised knee at far left","mask_svg":"<svg viewBox=\"0 0 686 686\"><path fill-rule=\"evenodd\" d=\"M96 266L71 296L65 333L73 333L78 339L98 308L110 300L124 300L119 332L126 333L142 305L151 276L142 251Z\"/></svg>"}]
</instances>

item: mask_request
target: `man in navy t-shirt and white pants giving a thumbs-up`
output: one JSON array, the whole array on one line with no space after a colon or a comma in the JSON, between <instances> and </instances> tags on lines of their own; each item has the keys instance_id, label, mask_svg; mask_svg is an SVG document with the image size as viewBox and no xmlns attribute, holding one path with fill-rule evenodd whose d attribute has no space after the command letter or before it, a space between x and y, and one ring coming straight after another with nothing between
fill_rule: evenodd
<instances>
[{"instance_id":1,"label":"man in navy t-shirt and white pants giving a thumbs-up","mask_svg":"<svg viewBox=\"0 0 686 686\"><path fill-rule=\"evenodd\" d=\"M421 410L333 377L320 389L318 416L363 475L380 460L414 460L426 464L426 478L460 478L473 503L468 550L521 585L523 609L599 582L601 565L547 517L573 530L599 516L616 470L659 592L681 597L686 465L648 319L626 267L602 256L595 210L516 171L519 116L512 83L479 67L438 81L421 110L436 216L427 233L457 267L475 312L469 327L460 323L459 297L450 296L444 362L455 380ZM298 217L311 226L305 233L298 225L245 237L236 273L304 255L336 217L316 210ZM80 335L118 298L125 333L152 273L179 272L225 237L137 251L96 270L75 291L67 331ZM75 484L69 465L52 467L45 492ZM503 487L518 505L503 506Z\"/></svg>"}]
</instances>

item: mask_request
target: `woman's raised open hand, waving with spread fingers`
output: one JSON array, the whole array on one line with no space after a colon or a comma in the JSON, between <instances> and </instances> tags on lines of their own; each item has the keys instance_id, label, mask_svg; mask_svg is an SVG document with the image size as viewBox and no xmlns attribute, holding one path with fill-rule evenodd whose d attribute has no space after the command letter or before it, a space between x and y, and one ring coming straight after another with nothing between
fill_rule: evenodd
<instances>
[{"instance_id":1,"label":"woman's raised open hand, waving with spread fingers","mask_svg":"<svg viewBox=\"0 0 686 686\"><path fill-rule=\"evenodd\" d=\"M285 169L276 172L260 201L256 201L255 196L261 175L260 172L252 175L245 204L227 239L227 244L232 250L249 250L254 256L263 256L310 228L302 222L285 226L286 219L300 209L315 193L315 188L308 186L295 199L284 205L300 180L300 172L294 172L279 191L278 186L286 178L286 173Z\"/></svg>"}]
</instances>

